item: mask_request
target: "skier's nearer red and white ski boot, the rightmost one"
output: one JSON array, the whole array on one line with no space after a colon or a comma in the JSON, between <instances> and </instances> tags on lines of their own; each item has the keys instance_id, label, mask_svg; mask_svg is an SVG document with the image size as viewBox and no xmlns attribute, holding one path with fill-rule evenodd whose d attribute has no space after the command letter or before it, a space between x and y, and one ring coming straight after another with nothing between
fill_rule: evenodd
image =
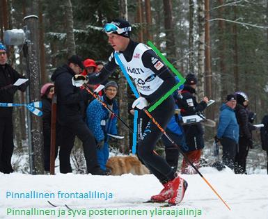
<instances>
[{"instance_id":1,"label":"skier's nearer red and white ski boot, the rightmost one","mask_svg":"<svg viewBox=\"0 0 268 219\"><path fill-rule=\"evenodd\" d=\"M187 181L179 176L171 181L171 190L173 190L173 196L168 200L169 205L176 205L182 202L185 190L187 189Z\"/></svg>"}]
</instances>

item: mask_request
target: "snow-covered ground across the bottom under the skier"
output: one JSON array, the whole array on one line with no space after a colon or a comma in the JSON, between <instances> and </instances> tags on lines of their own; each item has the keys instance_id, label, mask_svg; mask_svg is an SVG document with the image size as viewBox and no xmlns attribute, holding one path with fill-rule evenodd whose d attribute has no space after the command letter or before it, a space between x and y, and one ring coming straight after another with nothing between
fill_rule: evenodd
<instances>
[{"instance_id":1,"label":"snow-covered ground across the bottom under the skier","mask_svg":"<svg viewBox=\"0 0 268 219\"><path fill-rule=\"evenodd\" d=\"M160 208L161 204L143 204L161 190L162 186L152 175L92 176L57 174L25 175L0 173L0 218L268 218L268 175L260 170L258 175L235 175L226 168L218 172L214 168L200 168L231 211L219 200L199 175L182 175L189 187L179 206ZM11 193L50 193L50 198L11 198ZM83 193L84 198L58 198L61 193ZM10 195L6 197L7 192ZM112 197L86 198L88 193L104 193ZM56 205L50 205L47 201ZM65 204L72 209L70 211ZM49 210L55 216L12 216L19 209ZM76 211L75 211L76 210ZM7 216L7 211L9 215ZM172 213L201 213L201 216L168 215ZM58 213L61 216L58 217ZM65 213L65 215L63 215ZM74 213L76 215L74 216ZM86 213L85 216L77 216ZM91 215L113 214L113 215ZM118 215L123 213L123 215ZM132 216L128 214L132 213ZM136 215L133 214L147 214ZM33 213L32 213L33 214ZM68 216L68 214L70 214Z\"/></svg>"}]
</instances>

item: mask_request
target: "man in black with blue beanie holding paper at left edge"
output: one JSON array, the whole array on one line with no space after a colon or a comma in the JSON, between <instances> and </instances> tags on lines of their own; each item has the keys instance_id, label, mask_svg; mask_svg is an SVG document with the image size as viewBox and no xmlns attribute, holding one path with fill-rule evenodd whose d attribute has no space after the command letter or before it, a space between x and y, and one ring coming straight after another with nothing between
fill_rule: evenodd
<instances>
[{"instance_id":1,"label":"man in black with blue beanie holding paper at left edge","mask_svg":"<svg viewBox=\"0 0 268 219\"><path fill-rule=\"evenodd\" d=\"M0 102L13 103L17 89L26 90L27 83L13 86L17 79L24 78L7 64L6 47L0 42ZM13 154L13 107L0 107L0 172L13 172L11 156Z\"/></svg>"}]
</instances>

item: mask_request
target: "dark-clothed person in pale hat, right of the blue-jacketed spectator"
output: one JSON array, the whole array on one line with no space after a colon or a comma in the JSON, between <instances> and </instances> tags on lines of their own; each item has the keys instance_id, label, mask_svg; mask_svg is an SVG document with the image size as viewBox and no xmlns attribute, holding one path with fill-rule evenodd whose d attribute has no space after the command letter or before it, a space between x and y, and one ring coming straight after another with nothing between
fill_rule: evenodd
<instances>
[{"instance_id":1,"label":"dark-clothed person in pale hat, right of the blue-jacketed spectator","mask_svg":"<svg viewBox=\"0 0 268 219\"><path fill-rule=\"evenodd\" d=\"M237 106L235 107L235 115L239 124L239 140L238 149L235 156L235 173L246 174L246 157L249 148L253 147L252 130L256 128L249 122L249 97L242 91L235 92Z\"/></svg>"}]
</instances>

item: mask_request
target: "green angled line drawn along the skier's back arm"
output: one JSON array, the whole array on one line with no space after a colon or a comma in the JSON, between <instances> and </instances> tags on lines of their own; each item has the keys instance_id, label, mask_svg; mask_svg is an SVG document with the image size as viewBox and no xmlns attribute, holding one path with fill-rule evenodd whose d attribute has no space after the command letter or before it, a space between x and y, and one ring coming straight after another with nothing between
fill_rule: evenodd
<instances>
[{"instance_id":1,"label":"green angled line drawn along the skier's back arm","mask_svg":"<svg viewBox=\"0 0 268 219\"><path fill-rule=\"evenodd\" d=\"M182 83L185 82L185 79L184 77L180 74L180 72L178 72L178 70L175 69L175 67L173 67L173 65L168 62L168 60L165 58L165 56L163 56L161 54L161 51L159 51L157 49L157 47L155 47L154 44L152 44L151 41L148 41L147 44L149 45L149 47L152 48L153 51L155 51L155 53L161 58L161 60L163 60L163 62L171 69L171 71L176 75L178 76L178 78L180 79L180 82L177 83L173 88L171 88L171 90L169 90L166 95L164 95L163 97L161 97L159 100L157 100L157 102L155 102L155 104L153 104L150 108L148 108L148 111L149 112L152 112L155 108L157 108L157 106L159 106L162 102L164 102L164 100L166 98L168 98L169 95L172 95L172 93L177 90L181 85Z\"/></svg>"}]
</instances>

